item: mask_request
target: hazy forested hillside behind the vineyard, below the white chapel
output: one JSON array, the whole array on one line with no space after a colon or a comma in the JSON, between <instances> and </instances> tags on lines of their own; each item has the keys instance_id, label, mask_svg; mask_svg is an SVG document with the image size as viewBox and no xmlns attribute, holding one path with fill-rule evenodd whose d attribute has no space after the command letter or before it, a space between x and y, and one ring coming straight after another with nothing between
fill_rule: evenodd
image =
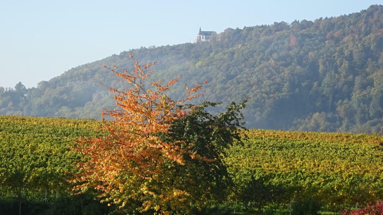
<instances>
[{"instance_id":1,"label":"hazy forested hillside behind the vineyard, below the white chapel","mask_svg":"<svg viewBox=\"0 0 383 215\"><path fill-rule=\"evenodd\" d=\"M102 67L158 62L154 77L208 79L202 100L242 101L248 127L378 132L383 126L383 6L314 21L226 29L210 43L142 47L72 68L37 88L0 88L0 114L100 118L113 107ZM184 86L173 91L177 97Z\"/></svg>"}]
</instances>

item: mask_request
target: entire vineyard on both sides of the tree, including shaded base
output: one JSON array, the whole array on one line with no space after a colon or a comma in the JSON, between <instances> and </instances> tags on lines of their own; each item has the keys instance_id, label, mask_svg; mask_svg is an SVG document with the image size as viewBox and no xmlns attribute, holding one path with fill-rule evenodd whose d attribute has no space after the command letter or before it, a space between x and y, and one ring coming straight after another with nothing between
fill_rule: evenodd
<instances>
[{"instance_id":1,"label":"entire vineyard on both sides of the tree, including shaded base","mask_svg":"<svg viewBox=\"0 0 383 215\"><path fill-rule=\"evenodd\" d=\"M100 135L101 123L0 116L0 214L15 213L19 200L28 206L23 210L40 208L29 214L115 210L100 203L96 191L70 195L74 184L68 179L77 171L72 164L81 158L70 145L80 136ZM216 207L222 213L288 214L291 207L293 214L316 214L309 211L338 212L376 202L383 199L382 143L377 134L243 132L242 143L226 151L232 184L227 200Z\"/></svg>"}]
</instances>

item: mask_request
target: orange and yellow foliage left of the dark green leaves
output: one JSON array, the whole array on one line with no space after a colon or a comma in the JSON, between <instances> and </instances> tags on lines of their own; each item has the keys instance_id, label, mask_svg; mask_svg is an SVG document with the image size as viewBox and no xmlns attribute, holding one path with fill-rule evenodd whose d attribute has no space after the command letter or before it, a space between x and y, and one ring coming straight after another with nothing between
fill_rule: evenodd
<instances>
[{"instance_id":1,"label":"orange and yellow foliage left of the dark green leaves","mask_svg":"<svg viewBox=\"0 0 383 215\"><path fill-rule=\"evenodd\" d=\"M133 59L132 55L130 57ZM114 118L104 121L103 129L109 135L76 141L75 148L84 155L85 161L78 163L82 172L76 175L74 181L79 185L74 189L82 192L93 187L100 191L104 201L121 207L138 201L141 205L132 209L166 214L169 207L182 204L188 193L171 186L161 187L167 177L161 165L167 161L183 165L185 155L198 156L184 149L185 142L163 142L158 134L167 133L172 121L187 114L178 108L179 104L201 95L196 92L202 86L186 86L185 95L174 101L165 93L177 83L177 78L164 85L161 80L151 81L151 86L147 87L153 71L146 70L155 63L139 65L133 59L133 64L133 72L116 65L113 68L103 65L129 87L124 90L107 87L115 94L116 105L120 108L101 113L103 118Z\"/></svg>"}]
</instances>

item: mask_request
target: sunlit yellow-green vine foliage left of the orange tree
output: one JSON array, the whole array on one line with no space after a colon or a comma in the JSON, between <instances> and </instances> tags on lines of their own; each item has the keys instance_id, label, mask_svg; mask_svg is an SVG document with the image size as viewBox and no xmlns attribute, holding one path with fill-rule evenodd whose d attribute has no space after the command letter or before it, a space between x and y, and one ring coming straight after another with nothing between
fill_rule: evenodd
<instances>
[{"instance_id":1,"label":"sunlit yellow-green vine foliage left of the orange tree","mask_svg":"<svg viewBox=\"0 0 383 215\"><path fill-rule=\"evenodd\" d=\"M42 189L66 190L80 158L72 140L98 135L100 126L95 120L0 116L0 192L31 197Z\"/></svg>"}]
</instances>

